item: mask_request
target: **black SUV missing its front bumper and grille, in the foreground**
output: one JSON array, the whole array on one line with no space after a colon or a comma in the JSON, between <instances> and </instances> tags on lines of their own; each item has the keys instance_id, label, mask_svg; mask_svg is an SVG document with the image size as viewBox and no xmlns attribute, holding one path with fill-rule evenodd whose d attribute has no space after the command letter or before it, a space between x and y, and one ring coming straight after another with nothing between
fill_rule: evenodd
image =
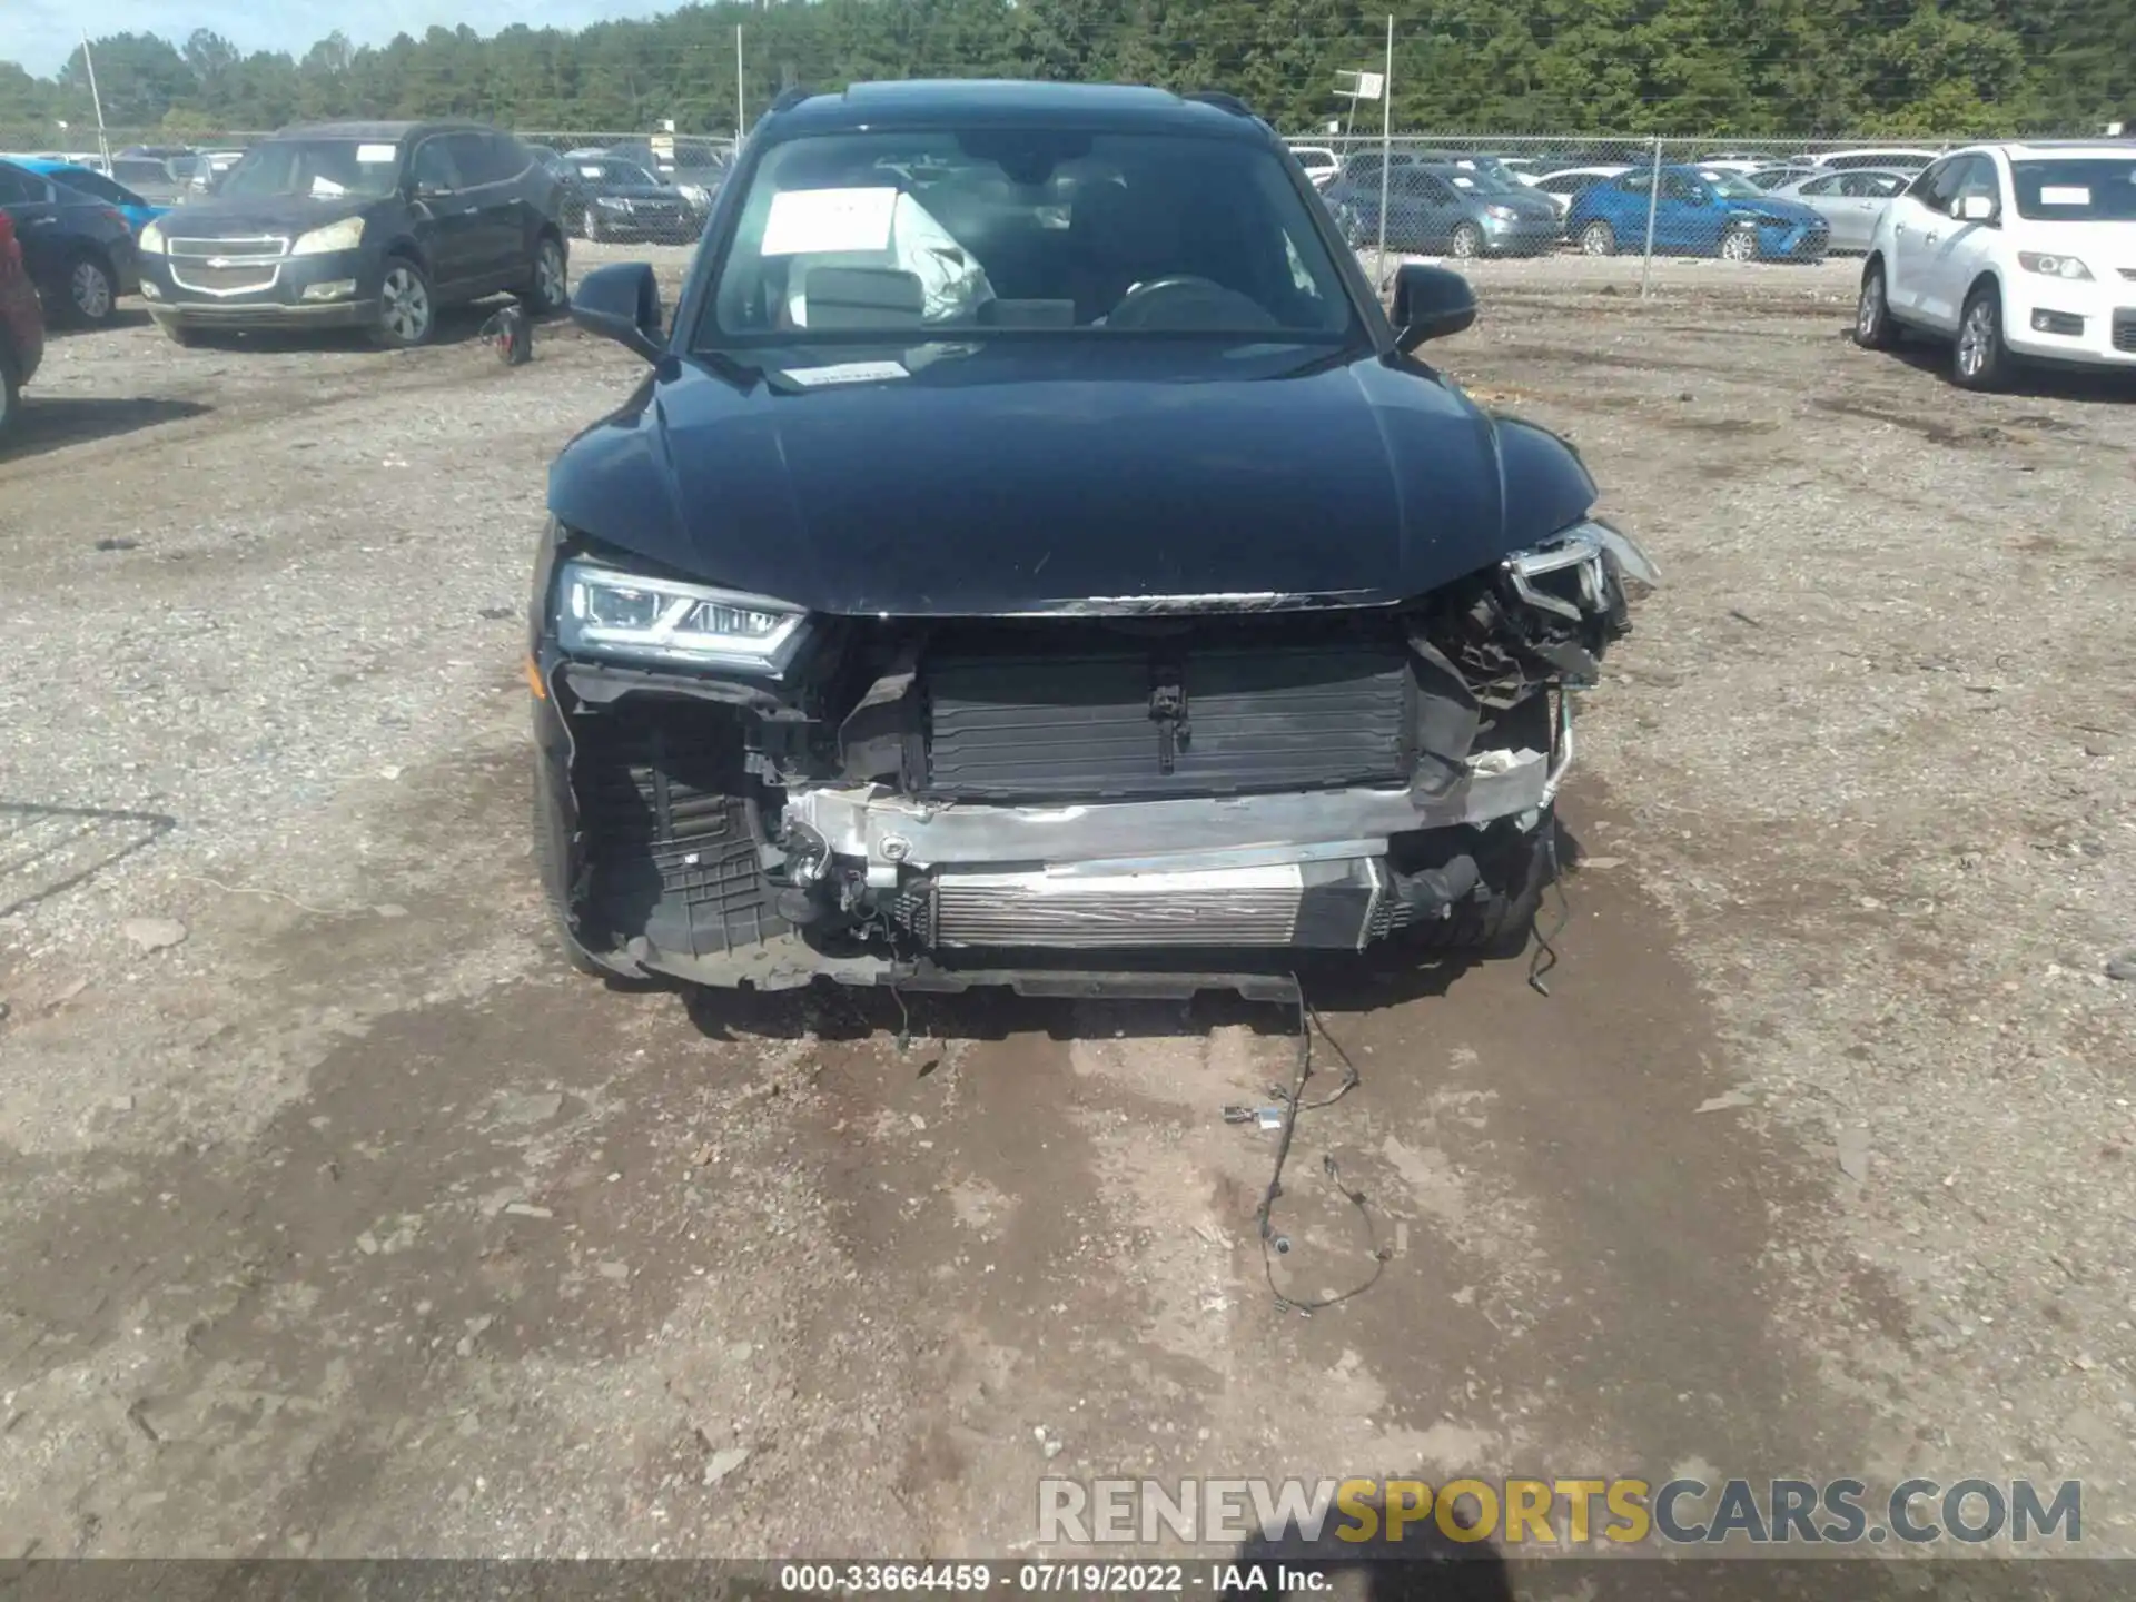
<instances>
[{"instance_id":1,"label":"black SUV missing its front bumper and grille, in the foreground","mask_svg":"<svg viewBox=\"0 0 2136 1602\"><path fill-rule=\"evenodd\" d=\"M1527 936L1638 549L1412 352L1273 130L1047 83L788 94L549 481L528 675L570 959L1279 993Z\"/></svg>"}]
</instances>

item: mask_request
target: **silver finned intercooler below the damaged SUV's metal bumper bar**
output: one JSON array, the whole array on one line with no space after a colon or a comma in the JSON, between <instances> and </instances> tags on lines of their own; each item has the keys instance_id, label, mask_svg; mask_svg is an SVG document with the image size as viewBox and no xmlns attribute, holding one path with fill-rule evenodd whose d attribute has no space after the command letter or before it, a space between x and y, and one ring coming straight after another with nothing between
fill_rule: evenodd
<instances>
[{"instance_id":1,"label":"silver finned intercooler below the damaged SUV's metal bumper bar","mask_svg":"<svg viewBox=\"0 0 2136 1602\"><path fill-rule=\"evenodd\" d=\"M957 948L1318 946L1384 931L1376 859L1175 871L942 871L921 899L931 944Z\"/></svg>"}]
</instances>

